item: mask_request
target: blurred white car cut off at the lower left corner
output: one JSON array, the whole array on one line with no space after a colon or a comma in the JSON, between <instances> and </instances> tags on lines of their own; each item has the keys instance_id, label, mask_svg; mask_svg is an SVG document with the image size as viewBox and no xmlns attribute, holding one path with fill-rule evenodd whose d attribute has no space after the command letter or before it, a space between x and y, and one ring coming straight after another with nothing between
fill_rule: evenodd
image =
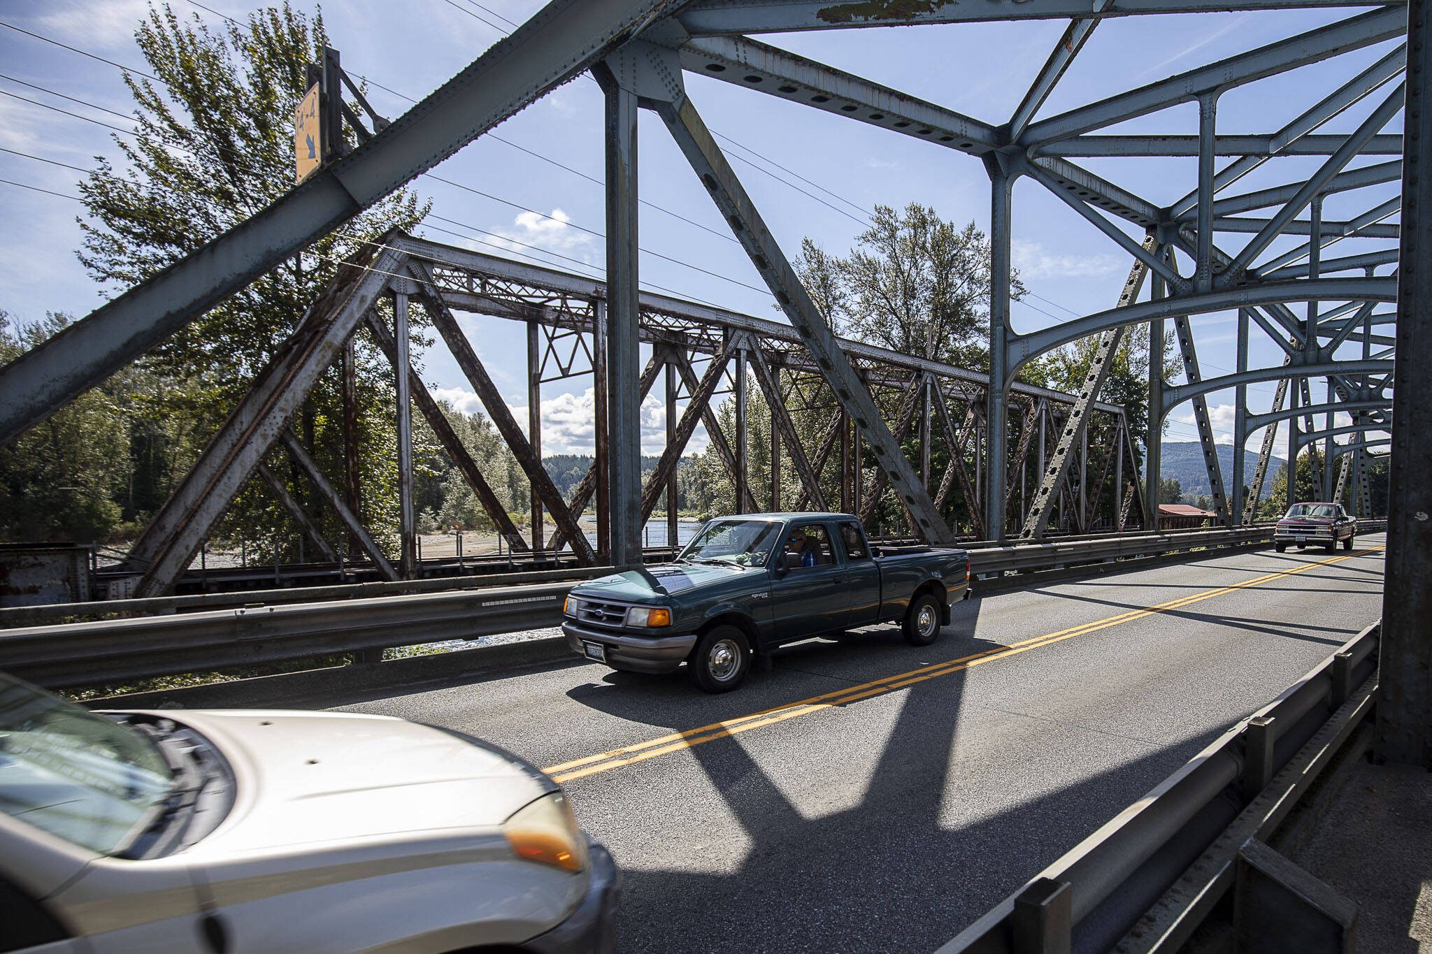
<instances>
[{"instance_id":1,"label":"blurred white car cut off at the lower left corner","mask_svg":"<svg viewBox=\"0 0 1432 954\"><path fill-rule=\"evenodd\" d=\"M610 951L616 894L556 782L475 738L0 674L0 951Z\"/></svg>"}]
</instances>

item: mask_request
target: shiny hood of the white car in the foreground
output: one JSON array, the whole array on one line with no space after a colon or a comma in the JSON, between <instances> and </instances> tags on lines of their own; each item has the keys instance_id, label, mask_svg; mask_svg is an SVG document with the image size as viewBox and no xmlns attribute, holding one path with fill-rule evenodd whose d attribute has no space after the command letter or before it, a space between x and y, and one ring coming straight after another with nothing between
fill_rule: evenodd
<instances>
[{"instance_id":1,"label":"shiny hood of the white car in the foreground","mask_svg":"<svg viewBox=\"0 0 1432 954\"><path fill-rule=\"evenodd\" d=\"M195 848L258 851L491 828L556 785L514 757L381 715L163 712L209 738L235 777L233 807Z\"/></svg>"}]
</instances>

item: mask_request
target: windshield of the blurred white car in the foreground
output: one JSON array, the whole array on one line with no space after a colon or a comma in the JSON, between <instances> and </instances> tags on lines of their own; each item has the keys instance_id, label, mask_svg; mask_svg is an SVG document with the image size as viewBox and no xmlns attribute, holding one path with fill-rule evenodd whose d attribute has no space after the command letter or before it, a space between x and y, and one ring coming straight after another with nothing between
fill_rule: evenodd
<instances>
[{"instance_id":1,"label":"windshield of the blurred white car in the foreground","mask_svg":"<svg viewBox=\"0 0 1432 954\"><path fill-rule=\"evenodd\" d=\"M147 827L175 775L155 739L0 674L0 811L115 854Z\"/></svg>"}]
</instances>

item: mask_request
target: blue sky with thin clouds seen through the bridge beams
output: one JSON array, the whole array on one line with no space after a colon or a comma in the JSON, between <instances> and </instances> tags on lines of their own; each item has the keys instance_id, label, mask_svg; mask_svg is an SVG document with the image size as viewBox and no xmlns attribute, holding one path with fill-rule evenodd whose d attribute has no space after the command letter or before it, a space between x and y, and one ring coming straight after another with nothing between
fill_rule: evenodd
<instances>
[{"instance_id":1,"label":"blue sky with thin clouds seen through the bridge beams","mask_svg":"<svg viewBox=\"0 0 1432 954\"><path fill-rule=\"evenodd\" d=\"M213 26L222 23L221 16L242 19L255 9L252 3L235 0L172 0L172 6L182 17L199 17ZM321 6L331 41L341 50L349 73L367 76L374 84L402 96L421 99L480 56L513 24L531 16L540 4L524 0L411 0L404 4L295 0L294 6L309 13ZM133 104L120 70L93 57L143 69L133 30L146 7L146 0L0 0L0 24L4 24L0 26L0 150L6 150L0 152L0 309L9 312L11 319L34 320L46 312L80 316L105 300L103 290L86 275L74 255L80 245L77 217L84 212L73 200L76 182L83 177L76 169L93 167L99 156L117 159L112 137L120 133L99 123L129 127L123 116L132 112ZM1353 13L1358 10L1106 20L1038 119ZM1018 106L1064 26L1061 20L1030 20L766 34L759 39L1000 124ZM1219 130L1272 133L1393 46L1393 41L1380 43L1230 90L1219 102ZM958 223L974 220L981 229L988 229L988 176L974 157L749 89L736 89L706 76L686 74L686 86L788 255L793 255L802 237L808 236L832 253L848 252L865 227L869 210L878 203L902 207L919 202L932 206L945 219ZM1388 92L1389 87L1382 87L1319 132L1350 132ZM390 119L411 106L407 99L377 86L369 89L369 100ZM471 143L432 170L494 197L430 177L412 183L421 196L432 199L434 215L445 219L430 219L417 229L418 235L600 275L604 259L600 237L601 119L601 96L587 76L547 94L497 127L494 134ZM1196 133L1197 107L1186 103L1100 132ZM1400 114L1383 132L1400 132ZM755 267L729 239L722 217L654 114L642 114L639 154L640 193L650 203L640 213L640 245L666 256L642 255L643 285L785 320ZM1359 159L1350 167L1385 160ZM1160 206L1177 200L1194 186L1194 159L1075 162ZM1220 166L1226 162L1230 160L1220 160ZM1226 195L1305 180L1320 162L1320 157L1285 157L1264 163ZM1325 219L1349 219L1396 192L1398 183L1388 183L1330 196ZM1389 222L1396 222L1396 216ZM1123 225L1128 235L1143 237L1136 235L1133 226ZM1219 237L1220 246L1230 253L1236 253L1243 240L1246 236ZM1264 257L1303 240L1279 239ZM1389 245L1395 243L1345 240L1325 249L1323 256L1353 255ZM1113 308L1130 266L1127 253L1030 179L1021 179L1014 190L1012 253L1014 265L1031 292L1024 302L1014 305L1017 332ZM1181 270L1189 272L1187 260ZM1388 272L1388 267L1378 270L1379 275ZM1204 378L1236 366L1236 318L1229 312L1191 319ZM461 323L518 421L524 421L523 326L485 316L463 316ZM1353 356L1352 352L1359 348L1348 343L1340 356ZM438 396L464 410L480 408L461 370L441 345L425 352L421 360L424 379ZM1280 362L1282 352L1256 332L1250 366ZM1273 390L1273 383L1250 386L1250 412L1266 410ZM1322 383L1313 386L1313 395L1316 402L1325 399ZM1232 390L1210 395L1209 409L1217 439L1232 442ZM590 378L547 385L543 416L543 448L547 453L590 452ZM660 400L652 398L643 408L644 451L659 452L663 433L664 409ZM1164 439L1191 441L1196 433L1191 410L1184 405L1170 415ZM1280 451L1286 446L1286 433L1285 426ZM1256 452L1260 441L1262 435L1254 435L1249 446ZM703 446L705 433L697 431L689 451Z\"/></svg>"}]
</instances>

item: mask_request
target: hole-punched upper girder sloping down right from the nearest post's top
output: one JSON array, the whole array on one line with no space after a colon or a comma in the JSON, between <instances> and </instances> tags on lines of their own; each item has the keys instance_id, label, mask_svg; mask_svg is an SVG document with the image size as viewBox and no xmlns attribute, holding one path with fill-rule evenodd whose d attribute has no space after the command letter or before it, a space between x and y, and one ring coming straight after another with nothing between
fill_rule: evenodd
<instances>
[{"instance_id":1,"label":"hole-punched upper girder sloping down right from the nearest post's top","mask_svg":"<svg viewBox=\"0 0 1432 954\"><path fill-rule=\"evenodd\" d=\"M690 40L682 69L971 154L1000 146L988 123L745 37Z\"/></svg>"}]
</instances>

